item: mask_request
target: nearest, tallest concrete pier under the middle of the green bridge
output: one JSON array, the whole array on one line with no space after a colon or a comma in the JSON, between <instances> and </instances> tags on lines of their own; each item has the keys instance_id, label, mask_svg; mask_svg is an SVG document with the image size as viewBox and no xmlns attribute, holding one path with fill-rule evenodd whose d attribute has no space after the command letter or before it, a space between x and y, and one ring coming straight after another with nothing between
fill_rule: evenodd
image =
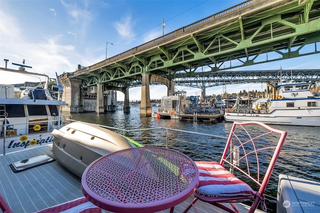
<instances>
[{"instance_id":1,"label":"nearest, tallest concrete pier under the middle of the green bridge","mask_svg":"<svg viewBox=\"0 0 320 213\"><path fill-rule=\"evenodd\" d=\"M140 117L151 117L149 83L150 83L150 75L148 73L143 73L142 86L141 86Z\"/></svg>"}]
</instances>

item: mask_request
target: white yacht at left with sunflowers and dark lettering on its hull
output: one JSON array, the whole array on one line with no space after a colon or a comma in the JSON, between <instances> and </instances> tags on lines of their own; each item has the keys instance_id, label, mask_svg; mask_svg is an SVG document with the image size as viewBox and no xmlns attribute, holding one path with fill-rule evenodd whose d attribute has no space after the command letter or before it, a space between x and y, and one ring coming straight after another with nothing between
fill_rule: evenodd
<instances>
[{"instance_id":1,"label":"white yacht at left with sunflowers and dark lettering on its hull","mask_svg":"<svg viewBox=\"0 0 320 213\"><path fill-rule=\"evenodd\" d=\"M24 63L14 65L19 69L0 68L2 80L21 81L0 84L0 154L4 155L52 143L52 130L62 126L60 107L66 105L60 85L54 87L54 99L47 75L25 71L29 66Z\"/></svg>"}]
</instances>

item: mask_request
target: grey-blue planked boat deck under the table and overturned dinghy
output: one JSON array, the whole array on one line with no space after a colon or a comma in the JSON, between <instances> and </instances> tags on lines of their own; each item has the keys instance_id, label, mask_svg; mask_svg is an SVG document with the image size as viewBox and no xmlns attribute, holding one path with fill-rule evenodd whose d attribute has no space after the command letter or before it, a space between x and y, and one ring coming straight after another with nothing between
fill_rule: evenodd
<instances>
[{"instance_id":1,"label":"grey-blue planked boat deck under the table and overturned dinghy","mask_svg":"<svg viewBox=\"0 0 320 213\"><path fill-rule=\"evenodd\" d=\"M0 156L0 193L14 213L33 213L83 197L80 178L57 161L19 173L12 173L8 167L11 163L44 154L53 157L51 145ZM193 196L176 206L174 213L181 213L192 199ZM247 206L238 205L240 212L247 212ZM203 202L198 201L195 206L198 213L223 213ZM102 212L108 213L108 211ZM168 212L169 210L165 210L160 213ZM194 210L191 208L188 213L194 213Z\"/></svg>"}]
</instances>

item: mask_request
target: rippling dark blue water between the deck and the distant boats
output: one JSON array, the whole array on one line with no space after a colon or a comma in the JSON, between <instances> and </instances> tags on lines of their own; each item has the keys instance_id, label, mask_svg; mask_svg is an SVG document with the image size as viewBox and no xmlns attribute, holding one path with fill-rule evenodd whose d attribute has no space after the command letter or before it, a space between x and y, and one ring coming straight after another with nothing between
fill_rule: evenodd
<instances>
[{"instance_id":1,"label":"rippling dark blue water between the deck and the distant boats","mask_svg":"<svg viewBox=\"0 0 320 213\"><path fill-rule=\"evenodd\" d=\"M152 107L152 112L156 111L156 107ZM146 129L146 128L170 128L184 131L199 132L204 134L217 135L227 137L232 123L221 122L217 124L195 123L188 121L179 121L175 119L154 119L151 117L140 117L139 107L131 107L130 113L123 113L123 111L108 112L105 114L82 113L72 114L72 118L84 122L91 122L105 126L132 130L132 129ZM297 126L283 126L271 125L271 127L286 131L287 137L285 140L286 146L296 146L309 149L318 150L320 147L319 132L320 127L297 127ZM128 133L129 137L138 137L137 142L142 144L156 144L164 145L165 132L161 130L141 131ZM205 156L198 156L193 153L187 153L193 160L196 161L218 161L224 149L225 140L204 137L201 135L189 135L181 132L169 132L170 145L188 151L200 152ZM184 141L193 141L207 147L197 146L195 144L186 144ZM276 191L278 175L286 174L298 178L306 178L312 181L320 181L320 158L318 154L298 151L283 148L278 161L273 170L265 194L271 195L273 199L266 198L268 212L275 212L276 209ZM250 205L250 204L249 204Z\"/></svg>"}]
</instances>

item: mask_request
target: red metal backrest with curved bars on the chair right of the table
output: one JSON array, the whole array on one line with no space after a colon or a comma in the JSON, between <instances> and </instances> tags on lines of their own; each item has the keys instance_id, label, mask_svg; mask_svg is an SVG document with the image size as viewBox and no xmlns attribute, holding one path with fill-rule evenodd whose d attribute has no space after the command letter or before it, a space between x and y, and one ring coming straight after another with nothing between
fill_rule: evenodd
<instances>
[{"instance_id":1,"label":"red metal backrest with curved bars on the chair right of the table","mask_svg":"<svg viewBox=\"0 0 320 213\"><path fill-rule=\"evenodd\" d=\"M263 196L286 134L260 122L234 122L220 164L253 181Z\"/></svg>"}]
</instances>

